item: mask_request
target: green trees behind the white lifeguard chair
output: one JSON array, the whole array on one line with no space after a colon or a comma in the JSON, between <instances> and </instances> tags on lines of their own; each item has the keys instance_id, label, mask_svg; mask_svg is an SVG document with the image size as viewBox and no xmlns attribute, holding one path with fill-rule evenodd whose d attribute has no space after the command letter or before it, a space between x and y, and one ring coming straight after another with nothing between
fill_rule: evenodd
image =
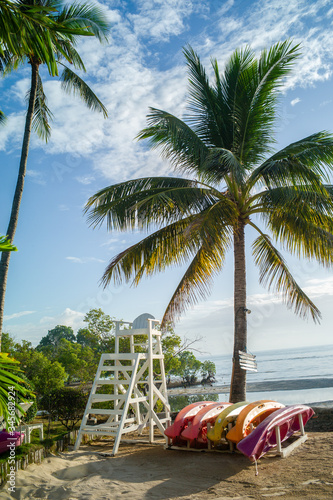
<instances>
[{"instance_id":1,"label":"green trees behind the white lifeguard chair","mask_svg":"<svg viewBox=\"0 0 333 500\"><path fill-rule=\"evenodd\" d=\"M35 347L28 340L16 342L8 333L3 333L2 351L20 362L38 398L65 385L89 386L101 354L115 351L114 318L102 309L91 309L83 321L85 327L76 335L72 327L57 325ZM214 381L215 364L210 360L200 361L191 351L193 342L182 340L170 326L162 333L169 382L172 378L183 385ZM129 338L121 338L120 351L129 352L129 349Z\"/></svg>"}]
</instances>

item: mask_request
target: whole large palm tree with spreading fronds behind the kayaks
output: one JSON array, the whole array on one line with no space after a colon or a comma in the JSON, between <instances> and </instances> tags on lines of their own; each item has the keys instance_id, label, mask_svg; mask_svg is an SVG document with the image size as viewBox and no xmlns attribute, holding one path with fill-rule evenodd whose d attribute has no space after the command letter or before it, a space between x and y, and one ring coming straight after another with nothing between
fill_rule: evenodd
<instances>
[{"instance_id":1,"label":"whole large palm tree with spreading fronds behind the kayaks","mask_svg":"<svg viewBox=\"0 0 333 500\"><path fill-rule=\"evenodd\" d=\"M295 313L318 321L319 310L296 283L274 240L291 254L332 265L328 173L333 137L319 132L272 150L279 90L299 55L297 45L277 43L259 58L249 47L236 50L223 74L212 61L213 83L190 47L184 54L189 69L185 120L151 109L138 138L149 139L176 170L194 179L147 177L116 184L92 196L86 211L91 224L106 220L109 230L153 230L111 260L104 286L111 279L133 278L137 285L144 276L189 262L163 324L207 296L233 248L230 401L236 402L246 399L246 372L239 363L239 351L247 350L245 228L258 234L252 253L260 282L281 292Z\"/></svg>"}]
</instances>

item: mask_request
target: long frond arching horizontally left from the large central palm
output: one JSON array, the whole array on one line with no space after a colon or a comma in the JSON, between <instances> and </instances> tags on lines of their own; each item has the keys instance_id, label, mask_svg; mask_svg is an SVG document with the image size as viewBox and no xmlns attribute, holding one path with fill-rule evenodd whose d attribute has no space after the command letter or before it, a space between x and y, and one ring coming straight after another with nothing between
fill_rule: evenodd
<instances>
[{"instance_id":1,"label":"long frond arching horizontally left from the large central palm","mask_svg":"<svg viewBox=\"0 0 333 500\"><path fill-rule=\"evenodd\" d=\"M199 182L175 177L147 177L115 184L92 196L85 207L88 222L104 220L109 230L148 229L151 224L169 224L179 218L224 204L233 216L233 205L216 190Z\"/></svg>"}]
</instances>

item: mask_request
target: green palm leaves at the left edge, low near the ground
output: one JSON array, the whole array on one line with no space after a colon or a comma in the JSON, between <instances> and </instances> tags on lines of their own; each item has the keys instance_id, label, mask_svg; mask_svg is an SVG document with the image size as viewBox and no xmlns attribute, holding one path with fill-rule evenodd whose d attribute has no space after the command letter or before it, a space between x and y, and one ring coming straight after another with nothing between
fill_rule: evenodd
<instances>
[{"instance_id":1,"label":"green palm leaves at the left edge, low near the ground","mask_svg":"<svg viewBox=\"0 0 333 500\"><path fill-rule=\"evenodd\" d=\"M24 413L20 403L35 398L21 373L19 361L10 358L7 353L0 353L0 415L6 423L17 424L19 418L16 410Z\"/></svg>"}]
</instances>

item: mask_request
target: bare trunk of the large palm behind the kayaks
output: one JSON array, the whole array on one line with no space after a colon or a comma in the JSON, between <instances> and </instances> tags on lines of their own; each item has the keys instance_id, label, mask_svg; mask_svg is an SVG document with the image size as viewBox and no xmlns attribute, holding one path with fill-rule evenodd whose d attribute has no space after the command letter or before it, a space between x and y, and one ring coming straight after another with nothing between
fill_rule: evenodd
<instances>
[{"instance_id":1,"label":"bare trunk of the large palm behind the kayaks","mask_svg":"<svg viewBox=\"0 0 333 500\"><path fill-rule=\"evenodd\" d=\"M234 231L234 354L230 384L230 402L246 400L246 371L239 366L238 351L247 347L245 225L242 220Z\"/></svg>"}]
</instances>

